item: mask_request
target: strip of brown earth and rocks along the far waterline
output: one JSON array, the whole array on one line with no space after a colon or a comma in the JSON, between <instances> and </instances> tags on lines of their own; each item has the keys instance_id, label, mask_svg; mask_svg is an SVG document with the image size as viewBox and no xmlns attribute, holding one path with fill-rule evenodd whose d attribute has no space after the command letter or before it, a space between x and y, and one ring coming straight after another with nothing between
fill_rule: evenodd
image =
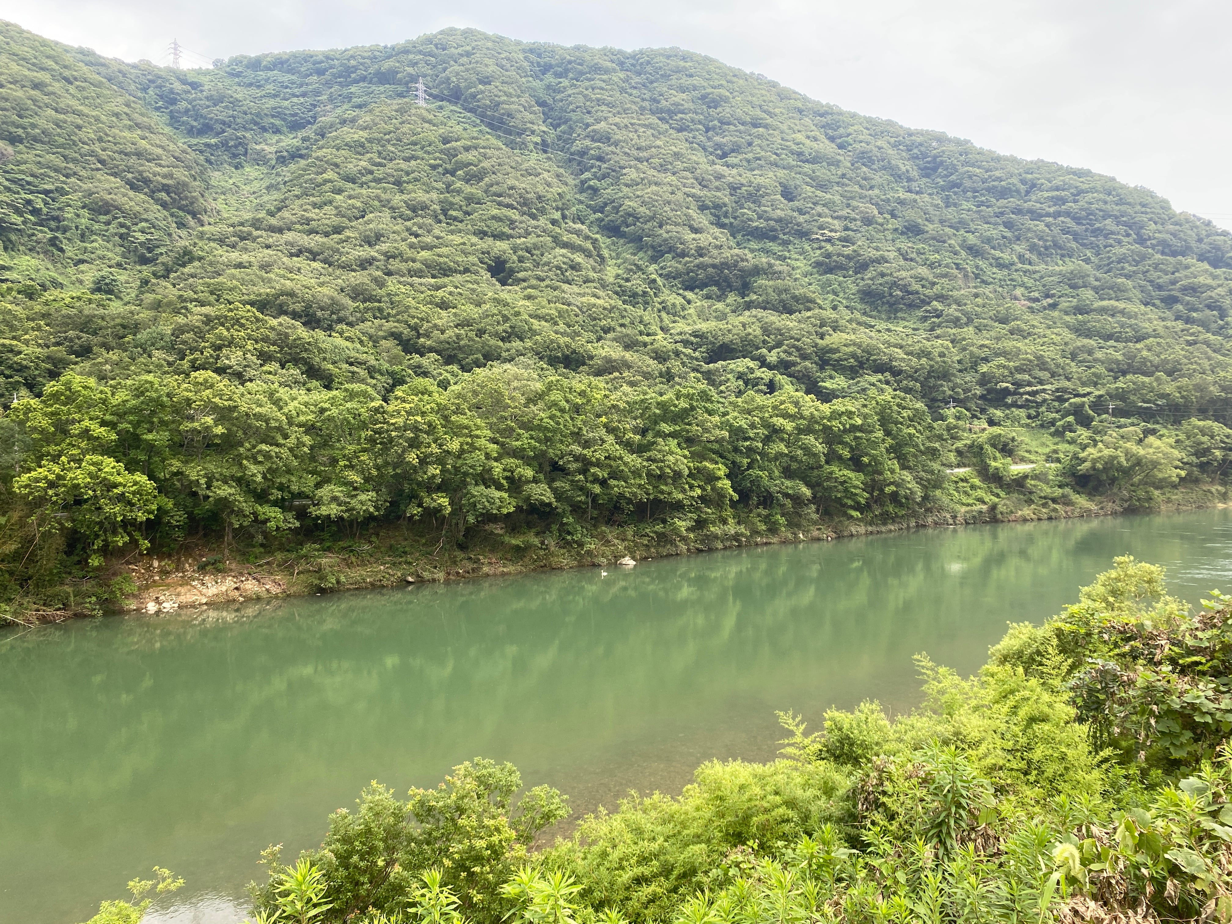
<instances>
[{"instance_id":1,"label":"strip of brown earth and rocks along the far waterline","mask_svg":"<svg viewBox=\"0 0 1232 924\"><path fill-rule=\"evenodd\" d=\"M599 529L579 545L536 536L506 536L488 530L480 531L467 548L446 548L437 535L418 533L400 526L373 530L362 538L328 545L306 542L298 546L288 543L282 549L246 549L244 558L224 557L222 549L209 545L185 543L171 556L134 553L112 562L105 579L113 585L118 582L124 593L113 595L116 599L106 609L166 612L218 602L615 565L625 557L648 561L740 546L832 541L909 529L1131 513L1124 503L1112 498L1076 495L1077 503L1068 506L1015 505L1013 495L1008 500L1011 503L1003 500L961 510L939 510L886 522L821 520L807 530L775 532L756 532L747 525L734 525L722 531L663 538L630 529ZM1158 510L1200 510L1227 501L1228 493L1223 488L1184 487L1162 494ZM87 612L97 612L97 607L42 612L31 622L58 621Z\"/></svg>"}]
</instances>

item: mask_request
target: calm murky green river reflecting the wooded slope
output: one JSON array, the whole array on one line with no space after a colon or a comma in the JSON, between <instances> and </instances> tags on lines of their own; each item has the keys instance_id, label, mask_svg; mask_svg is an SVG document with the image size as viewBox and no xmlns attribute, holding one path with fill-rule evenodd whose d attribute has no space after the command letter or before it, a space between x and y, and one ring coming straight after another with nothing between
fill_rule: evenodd
<instances>
[{"instance_id":1,"label":"calm murky green river reflecting the wooded slope","mask_svg":"<svg viewBox=\"0 0 1232 924\"><path fill-rule=\"evenodd\" d=\"M83 620L0 636L0 920L73 924L155 864L150 922L230 924L257 851L319 840L377 779L511 760L574 808L761 760L775 710L918 697L1116 554L1193 602L1232 510L920 530L598 568Z\"/></svg>"}]
</instances>

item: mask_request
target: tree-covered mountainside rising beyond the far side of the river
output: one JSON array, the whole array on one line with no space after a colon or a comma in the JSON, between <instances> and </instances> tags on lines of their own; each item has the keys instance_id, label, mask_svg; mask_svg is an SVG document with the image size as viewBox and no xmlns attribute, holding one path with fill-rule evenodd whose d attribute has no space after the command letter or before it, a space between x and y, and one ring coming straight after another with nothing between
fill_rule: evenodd
<instances>
[{"instance_id":1,"label":"tree-covered mountainside rising beyond the far side of the river","mask_svg":"<svg viewBox=\"0 0 1232 924\"><path fill-rule=\"evenodd\" d=\"M7 614L137 549L580 557L1232 460L1232 235L679 49L185 71L0 22L0 246Z\"/></svg>"}]
</instances>

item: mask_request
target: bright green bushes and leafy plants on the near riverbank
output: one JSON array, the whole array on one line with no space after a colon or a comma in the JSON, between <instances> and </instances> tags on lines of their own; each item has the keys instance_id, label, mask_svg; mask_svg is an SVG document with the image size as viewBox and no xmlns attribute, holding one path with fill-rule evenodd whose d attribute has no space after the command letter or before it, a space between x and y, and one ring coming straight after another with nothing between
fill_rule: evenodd
<instances>
[{"instance_id":1,"label":"bright green bushes and leafy plants on the near riverbank","mask_svg":"<svg viewBox=\"0 0 1232 924\"><path fill-rule=\"evenodd\" d=\"M547 786L476 759L405 800L373 782L318 848L262 855L251 922L966 924L1232 919L1232 599L1190 610L1119 558L924 703L781 713L782 759L712 761L567 838ZM536 841L538 838L540 843ZM165 870L91 924L136 924Z\"/></svg>"}]
</instances>

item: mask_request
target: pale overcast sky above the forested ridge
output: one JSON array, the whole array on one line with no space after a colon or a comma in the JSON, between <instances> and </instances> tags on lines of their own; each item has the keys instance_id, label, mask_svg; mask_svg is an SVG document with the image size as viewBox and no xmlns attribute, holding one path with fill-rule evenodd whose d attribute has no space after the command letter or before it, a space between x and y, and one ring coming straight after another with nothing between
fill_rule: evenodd
<instances>
[{"instance_id":1,"label":"pale overcast sky above the forested ridge","mask_svg":"<svg viewBox=\"0 0 1232 924\"><path fill-rule=\"evenodd\" d=\"M1088 166L1232 228L1232 4L1217 0L0 0L0 18L163 63L388 44L445 26L680 46L809 96Z\"/></svg>"}]
</instances>

